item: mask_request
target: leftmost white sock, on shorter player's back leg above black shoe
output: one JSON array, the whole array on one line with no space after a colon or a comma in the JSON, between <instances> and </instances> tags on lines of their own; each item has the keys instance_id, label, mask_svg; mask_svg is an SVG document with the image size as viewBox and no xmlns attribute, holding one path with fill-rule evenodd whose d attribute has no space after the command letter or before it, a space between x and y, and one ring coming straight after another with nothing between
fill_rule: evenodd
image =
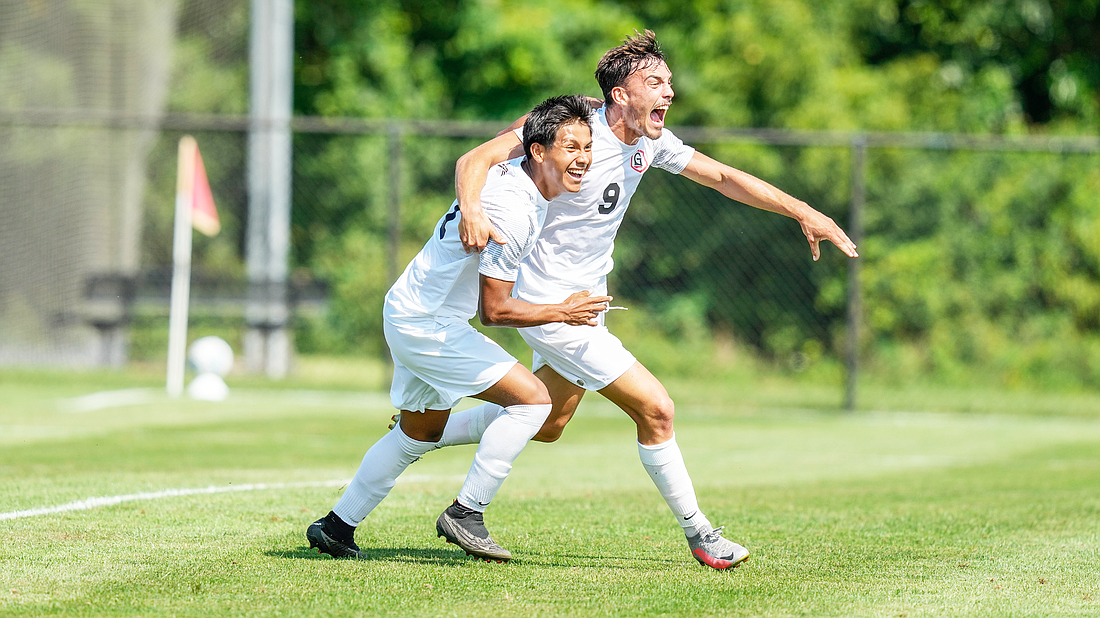
<instances>
[{"instance_id":1,"label":"leftmost white sock, on shorter player's back leg above black shoe","mask_svg":"<svg viewBox=\"0 0 1100 618\"><path fill-rule=\"evenodd\" d=\"M389 494L405 468L435 448L435 442L420 442L405 435L398 424L363 455L363 463L332 512L344 523L359 526Z\"/></svg>"}]
</instances>

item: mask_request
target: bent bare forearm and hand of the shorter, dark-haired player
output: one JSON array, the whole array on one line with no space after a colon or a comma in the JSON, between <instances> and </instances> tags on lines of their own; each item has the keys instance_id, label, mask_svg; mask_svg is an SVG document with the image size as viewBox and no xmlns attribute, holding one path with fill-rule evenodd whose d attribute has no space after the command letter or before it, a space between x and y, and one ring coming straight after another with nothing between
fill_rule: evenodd
<instances>
[{"instance_id":1,"label":"bent bare forearm and hand of the shorter, dark-haired player","mask_svg":"<svg viewBox=\"0 0 1100 618\"><path fill-rule=\"evenodd\" d=\"M550 322L565 322L574 327L597 325L596 317L607 310L609 296L588 296L587 291L570 295L557 305L531 305L512 297L513 282L481 278L477 314L486 327L538 327Z\"/></svg>"}]
</instances>

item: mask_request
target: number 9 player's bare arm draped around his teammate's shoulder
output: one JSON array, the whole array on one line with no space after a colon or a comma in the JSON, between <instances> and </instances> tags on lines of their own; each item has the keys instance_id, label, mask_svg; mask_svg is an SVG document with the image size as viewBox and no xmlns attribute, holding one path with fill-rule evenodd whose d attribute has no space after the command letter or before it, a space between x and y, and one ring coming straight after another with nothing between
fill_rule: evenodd
<instances>
[{"instance_id":1,"label":"number 9 player's bare arm draped around his teammate's shoulder","mask_svg":"<svg viewBox=\"0 0 1100 618\"><path fill-rule=\"evenodd\" d=\"M508 131L459 157L459 163L454 166L454 192L459 198L459 209L462 210L459 239L466 253L470 250L485 249L490 239L501 244L507 242L482 211L481 191L485 188L488 168L521 154L524 144L515 133Z\"/></svg>"}]
</instances>

